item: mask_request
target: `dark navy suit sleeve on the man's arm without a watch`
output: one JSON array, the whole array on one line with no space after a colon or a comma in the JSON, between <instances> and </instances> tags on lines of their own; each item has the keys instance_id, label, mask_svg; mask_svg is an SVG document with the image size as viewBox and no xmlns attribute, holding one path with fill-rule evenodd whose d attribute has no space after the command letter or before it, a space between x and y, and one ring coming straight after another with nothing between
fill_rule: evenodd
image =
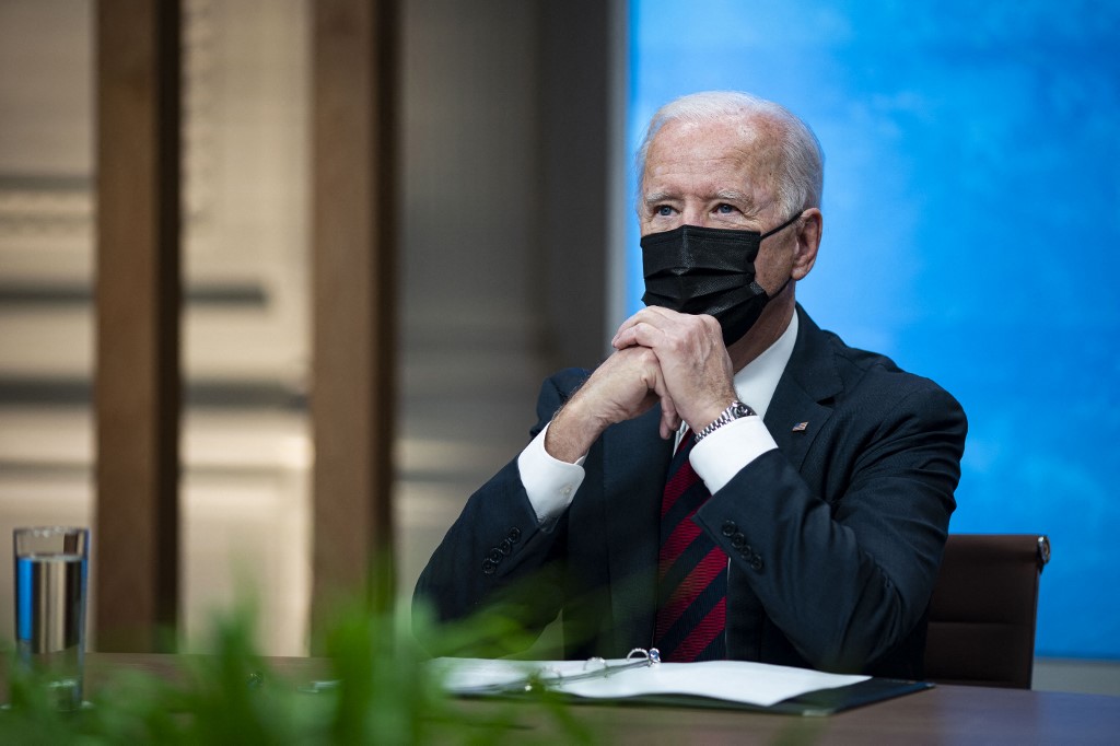
<instances>
[{"instance_id":1,"label":"dark navy suit sleeve on the man's arm without a watch","mask_svg":"<svg viewBox=\"0 0 1120 746\"><path fill-rule=\"evenodd\" d=\"M571 369L544 382L531 437L585 377ZM467 500L417 581L413 608L451 622L501 604L507 616L539 633L562 605L562 577L552 559L566 534L563 515L538 522L514 458Z\"/></svg>"}]
</instances>

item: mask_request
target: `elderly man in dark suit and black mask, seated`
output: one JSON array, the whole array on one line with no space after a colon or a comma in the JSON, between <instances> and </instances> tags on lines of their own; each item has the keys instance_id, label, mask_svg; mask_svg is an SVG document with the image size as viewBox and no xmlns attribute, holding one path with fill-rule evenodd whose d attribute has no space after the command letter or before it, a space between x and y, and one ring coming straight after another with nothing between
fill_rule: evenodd
<instances>
[{"instance_id":1,"label":"elderly man in dark suit and black mask, seated","mask_svg":"<svg viewBox=\"0 0 1120 746\"><path fill-rule=\"evenodd\" d=\"M815 137L700 93L654 115L638 159L646 308L594 372L544 383L532 442L467 502L417 600L560 614L572 658L920 678L965 419L796 305L823 225Z\"/></svg>"}]
</instances>

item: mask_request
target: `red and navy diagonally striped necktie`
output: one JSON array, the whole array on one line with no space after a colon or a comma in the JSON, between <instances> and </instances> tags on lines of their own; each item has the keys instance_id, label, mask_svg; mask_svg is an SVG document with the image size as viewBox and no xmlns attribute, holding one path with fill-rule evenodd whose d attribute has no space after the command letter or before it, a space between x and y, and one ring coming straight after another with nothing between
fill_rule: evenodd
<instances>
[{"instance_id":1,"label":"red and navy diagonally striped necktie","mask_svg":"<svg viewBox=\"0 0 1120 746\"><path fill-rule=\"evenodd\" d=\"M661 500L654 645L663 661L727 656L727 554L692 521L711 496L689 463L693 444L692 431L685 431Z\"/></svg>"}]
</instances>

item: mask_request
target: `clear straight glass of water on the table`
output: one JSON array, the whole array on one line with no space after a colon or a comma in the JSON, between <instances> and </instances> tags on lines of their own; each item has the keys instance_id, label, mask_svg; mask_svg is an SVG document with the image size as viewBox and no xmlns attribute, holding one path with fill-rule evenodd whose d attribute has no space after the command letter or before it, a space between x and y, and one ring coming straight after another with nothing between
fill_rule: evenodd
<instances>
[{"instance_id":1,"label":"clear straight glass of water on the table","mask_svg":"<svg viewBox=\"0 0 1120 746\"><path fill-rule=\"evenodd\" d=\"M16 529L16 649L60 710L82 707L90 530Z\"/></svg>"}]
</instances>

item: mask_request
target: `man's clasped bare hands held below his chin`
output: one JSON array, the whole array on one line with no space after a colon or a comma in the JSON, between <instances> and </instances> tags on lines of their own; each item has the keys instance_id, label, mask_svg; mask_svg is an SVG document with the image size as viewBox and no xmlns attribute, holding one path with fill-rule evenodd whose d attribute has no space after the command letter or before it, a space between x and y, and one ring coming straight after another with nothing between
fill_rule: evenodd
<instances>
[{"instance_id":1,"label":"man's clasped bare hands held below his chin","mask_svg":"<svg viewBox=\"0 0 1120 746\"><path fill-rule=\"evenodd\" d=\"M735 400L731 358L711 316L650 306L626 319L610 341L615 352L557 412L544 448L573 463L610 425L661 403L661 437L681 422L699 431Z\"/></svg>"}]
</instances>

